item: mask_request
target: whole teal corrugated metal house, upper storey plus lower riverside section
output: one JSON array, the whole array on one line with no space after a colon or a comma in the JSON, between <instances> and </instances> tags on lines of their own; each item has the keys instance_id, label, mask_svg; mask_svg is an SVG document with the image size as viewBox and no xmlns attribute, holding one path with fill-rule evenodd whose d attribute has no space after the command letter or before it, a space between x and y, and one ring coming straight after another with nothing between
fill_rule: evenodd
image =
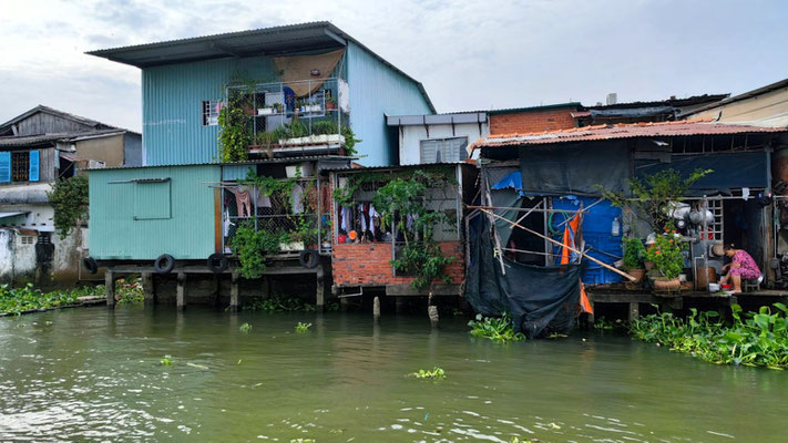
<instances>
[{"instance_id":1,"label":"whole teal corrugated metal house, upper storey plus lower riverside section","mask_svg":"<svg viewBox=\"0 0 788 443\"><path fill-rule=\"evenodd\" d=\"M90 255L98 260L152 260L162 254L204 260L227 253L227 225L242 215L232 182L249 168L218 161L218 114L234 89L253 97L244 112L255 141L295 121L308 127L295 145L290 138L279 138L276 148L270 142L267 150L250 145L250 159L263 162L337 158L346 154L341 128L349 126L361 140L355 146L359 163L392 165L398 146L385 115L434 112L421 83L329 22L90 54L142 70L144 167L90 172ZM320 125L337 133L315 131ZM285 166L277 167L278 178Z\"/></svg>"}]
</instances>

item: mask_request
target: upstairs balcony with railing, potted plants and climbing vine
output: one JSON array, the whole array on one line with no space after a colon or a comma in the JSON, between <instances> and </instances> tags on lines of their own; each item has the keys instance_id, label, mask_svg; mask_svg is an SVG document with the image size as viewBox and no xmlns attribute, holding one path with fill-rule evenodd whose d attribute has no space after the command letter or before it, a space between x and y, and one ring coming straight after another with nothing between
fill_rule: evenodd
<instances>
[{"instance_id":1,"label":"upstairs balcony with railing, potted plants and climbing vine","mask_svg":"<svg viewBox=\"0 0 788 443\"><path fill-rule=\"evenodd\" d=\"M239 110L250 157L352 154L348 85L341 79L315 79L229 86L226 103Z\"/></svg>"}]
</instances>

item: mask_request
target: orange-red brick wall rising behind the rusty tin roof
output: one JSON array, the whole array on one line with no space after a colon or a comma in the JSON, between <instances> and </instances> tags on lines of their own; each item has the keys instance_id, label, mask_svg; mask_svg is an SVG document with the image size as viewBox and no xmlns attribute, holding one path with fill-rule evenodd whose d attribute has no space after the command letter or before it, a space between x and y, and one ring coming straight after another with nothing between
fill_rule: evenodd
<instances>
[{"instance_id":1,"label":"orange-red brick wall rising behind the rusty tin roof","mask_svg":"<svg viewBox=\"0 0 788 443\"><path fill-rule=\"evenodd\" d=\"M530 133L574 127L574 106L490 115L490 135Z\"/></svg>"}]
</instances>

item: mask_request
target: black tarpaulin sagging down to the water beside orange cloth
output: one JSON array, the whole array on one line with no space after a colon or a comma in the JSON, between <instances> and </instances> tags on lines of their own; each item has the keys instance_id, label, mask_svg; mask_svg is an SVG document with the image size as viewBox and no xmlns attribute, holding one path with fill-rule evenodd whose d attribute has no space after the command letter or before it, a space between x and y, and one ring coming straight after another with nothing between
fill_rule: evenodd
<instances>
[{"instance_id":1,"label":"black tarpaulin sagging down to the water beside orange cloth","mask_svg":"<svg viewBox=\"0 0 788 443\"><path fill-rule=\"evenodd\" d=\"M577 264L530 266L494 256L490 220L485 215L469 224L470 265L465 299L483 316L509 312L514 328L529 338L572 330L580 300Z\"/></svg>"}]
</instances>

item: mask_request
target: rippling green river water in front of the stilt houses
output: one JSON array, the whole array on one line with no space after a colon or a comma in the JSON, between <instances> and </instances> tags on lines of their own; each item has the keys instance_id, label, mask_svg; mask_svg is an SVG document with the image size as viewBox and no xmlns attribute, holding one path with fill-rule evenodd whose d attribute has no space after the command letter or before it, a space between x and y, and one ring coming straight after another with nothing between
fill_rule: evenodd
<instances>
[{"instance_id":1,"label":"rippling green river water in front of the stilt houses","mask_svg":"<svg viewBox=\"0 0 788 443\"><path fill-rule=\"evenodd\" d=\"M298 321L314 326L295 333ZM467 321L192 307L0 318L0 441L788 441L785 372L612 334L501 346ZM406 377L434 365L446 380Z\"/></svg>"}]
</instances>

